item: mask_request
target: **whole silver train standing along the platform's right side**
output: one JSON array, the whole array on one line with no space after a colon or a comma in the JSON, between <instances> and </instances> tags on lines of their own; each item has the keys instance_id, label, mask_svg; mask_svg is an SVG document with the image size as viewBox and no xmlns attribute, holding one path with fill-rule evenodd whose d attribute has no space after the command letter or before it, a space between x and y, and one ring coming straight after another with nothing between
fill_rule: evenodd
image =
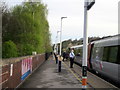
<instances>
[{"instance_id":1,"label":"whole silver train standing along the platform's right side","mask_svg":"<svg viewBox=\"0 0 120 90\"><path fill-rule=\"evenodd\" d=\"M83 45L72 46L75 63L82 64ZM120 85L120 35L88 44L87 68Z\"/></svg>"}]
</instances>

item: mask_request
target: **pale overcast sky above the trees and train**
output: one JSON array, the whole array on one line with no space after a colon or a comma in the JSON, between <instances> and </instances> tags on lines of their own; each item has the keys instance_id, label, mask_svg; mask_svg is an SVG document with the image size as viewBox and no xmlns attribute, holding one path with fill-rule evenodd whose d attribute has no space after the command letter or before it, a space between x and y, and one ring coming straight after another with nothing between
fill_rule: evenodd
<instances>
[{"instance_id":1,"label":"pale overcast sky above the trees and train","mask_svg":"<svg viewBox=\"0 0 120 90\"><path fill-rule=\"evenodd\" d=\"M7 0L15 5L21 0ZM88 11L88 36L108 36L118 34L118 2L120 0L96 0ZM48 21L55 42L60 30L60 18L63 19L62 40L80 39L83 37L84 0L42 0L47 4ZM59 39L58 39L59 41Z\"/></svg>"}]
</instances>

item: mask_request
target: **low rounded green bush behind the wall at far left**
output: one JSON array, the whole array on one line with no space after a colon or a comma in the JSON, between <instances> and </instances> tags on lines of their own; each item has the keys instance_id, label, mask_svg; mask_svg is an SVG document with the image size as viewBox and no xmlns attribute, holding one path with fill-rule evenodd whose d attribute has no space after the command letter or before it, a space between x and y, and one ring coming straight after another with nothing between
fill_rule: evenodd
<instances>
[{"instance_id":1,"label":"low rounded green bush behind the wall at far left","mask_svg":"<svg viewBox=\"0 0 120 90\"><path fill-rule=\"evenodd\" d=\"M2 45L2 58L17 57L17 47L13 41L6 41Z\"/></svg>"}]
</instances>

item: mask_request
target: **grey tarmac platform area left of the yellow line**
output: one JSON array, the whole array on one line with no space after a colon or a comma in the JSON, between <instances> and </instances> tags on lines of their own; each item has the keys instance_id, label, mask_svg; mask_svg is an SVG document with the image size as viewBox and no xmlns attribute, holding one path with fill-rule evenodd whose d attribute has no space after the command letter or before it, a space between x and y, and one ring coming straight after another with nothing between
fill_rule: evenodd
<instances>
[{"instance_id":1,"label":"grey tarmac platform area left of the yellow line","mask_svg":"<svg viewBox=\"0 0 120 90\"><path fill-rule=\"evenodd\" d=\"M58 72L58 64L50 57L19 88L82 88L82 83L64 62Z\"/></svg>"}]
</instances>

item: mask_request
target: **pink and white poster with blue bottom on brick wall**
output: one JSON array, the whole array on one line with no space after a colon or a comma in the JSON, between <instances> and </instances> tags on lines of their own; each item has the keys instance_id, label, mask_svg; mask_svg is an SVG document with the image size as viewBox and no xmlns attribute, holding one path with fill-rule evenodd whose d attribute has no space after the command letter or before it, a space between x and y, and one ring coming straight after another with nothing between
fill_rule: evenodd
<instances>
[{"instance_id":1,"label":"pink and white poster with blue bottom on brick wall","mask_svg":"<svg viewBox=\"0 0 120 90\"><path fill-rule=\"evenodd\" d=\"M31 72L32 72L32 57L23 59L21 80L24 80Z\"/></svg>"}]
</instances>

